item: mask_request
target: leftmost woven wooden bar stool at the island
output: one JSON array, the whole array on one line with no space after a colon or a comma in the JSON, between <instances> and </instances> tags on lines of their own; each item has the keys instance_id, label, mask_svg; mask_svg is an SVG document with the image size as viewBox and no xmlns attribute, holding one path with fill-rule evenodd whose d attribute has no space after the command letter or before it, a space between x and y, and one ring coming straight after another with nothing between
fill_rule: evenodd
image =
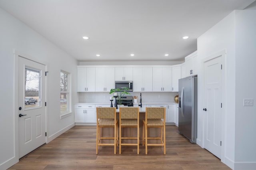
<instances>
[{"instance_id":1,"label":"leftmost woven wooden bar stool at the island","mask_svg":"<svg viewBox=\"0 0 256 170\"><path fill-rule=\"evenodd\" d=\"M116 145L118 144L118 125L116 120L115 107L96 107L97 113L97 127L96 127L96 154L98 154L98 146L114 146L114 154L116 154ZM114 137L101 137L100 128L112 127L114 128ZM114 140L113 143L101 143L101 140Z\"/></svg>"}]
</instances>

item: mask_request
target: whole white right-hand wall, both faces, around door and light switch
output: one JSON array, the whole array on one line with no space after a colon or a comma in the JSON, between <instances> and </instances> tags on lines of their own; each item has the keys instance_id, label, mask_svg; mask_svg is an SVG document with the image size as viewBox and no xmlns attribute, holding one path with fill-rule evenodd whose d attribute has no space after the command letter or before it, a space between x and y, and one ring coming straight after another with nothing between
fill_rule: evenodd
<instances>
[{"instance_id":1,"label":"whole white right-hand wall, both faces, around door and light switch","mask_svg":"<svg viewBox=\"0 0 256 170\"><path fill-rule=\"evenodd\" d=\"M222 128L221 161L232 169L253 169L256 166L256 109L244 107L244 98L256 97L256 11L234 11L198 38L198 89L203 89L202 59L226 50L224 126ZM202 112L203 90L198 91L198 138L204 138ZM203 143L200 145L203 147Z\"/></svg>"}]
</instances>

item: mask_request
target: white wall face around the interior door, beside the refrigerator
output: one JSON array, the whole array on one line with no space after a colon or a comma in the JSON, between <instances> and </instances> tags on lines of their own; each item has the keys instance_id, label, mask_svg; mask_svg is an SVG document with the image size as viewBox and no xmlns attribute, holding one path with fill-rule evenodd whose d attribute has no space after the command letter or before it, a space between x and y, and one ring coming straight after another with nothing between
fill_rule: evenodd
<instances>
[{"instance_id":1,"label":"white wall face around the interior door, beside the refrigerator","mask_svg":"<svg viewBox=\"0 0 256 170\"><path fill-rule=\"evenodd\" d=\"M198 59L201 61L201 71L198 73L198 89L204 89L203 80L203 63L202 59L213 55L222 50L226 50L226 65L224 65L224 70L226 70L226 101L223 102L226 119L223 120L225 123L225 129L222 132L225 135L224 142L225 153L224 157L231 162L234 161L234 139L235 139L235 12L229 14L226 18L204 33L198 38ZM202 109L204 108L203 102L203 90L198 91L198 138L203 140L204 128L204 113ZM227 119L228 117L228 119ZM222 135L223 136L223 135ZM222 160L222 162L227 162Z\"/></svg>"}]
</instances>

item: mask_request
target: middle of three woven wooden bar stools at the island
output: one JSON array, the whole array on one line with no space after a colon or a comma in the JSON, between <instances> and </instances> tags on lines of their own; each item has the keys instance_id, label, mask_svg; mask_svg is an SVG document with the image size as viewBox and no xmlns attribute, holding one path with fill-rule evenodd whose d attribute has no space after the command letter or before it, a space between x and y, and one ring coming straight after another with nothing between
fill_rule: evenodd
<instances>
[{"instance_id":1,"label":"middle of three woven wooden bar stools at the island","mask_svg":"<svg viewBox=\"0 0 256 170\"><path fill-rule=\"evenodd\" d=\"M120 107L119 109L119 154L121 146L137 146L137 154L140 154L140 111L139 107ZM137 137L122 137L122 128L137 128ZM122 139L136 139L137 143L122 143Z\"/></svg>"}]
</instances>

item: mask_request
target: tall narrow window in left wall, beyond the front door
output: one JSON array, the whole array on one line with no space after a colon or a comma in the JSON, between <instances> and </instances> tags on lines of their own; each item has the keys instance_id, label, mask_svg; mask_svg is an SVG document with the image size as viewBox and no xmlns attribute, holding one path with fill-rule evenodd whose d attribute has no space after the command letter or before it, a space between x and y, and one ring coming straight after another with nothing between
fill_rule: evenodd
<instances>
[{"instance_id":1,"label":"tall narrow window in left wall, beyond the front door","mask_svg":"<svg viewBox=\"0 0 256 170\"><path fill-rule=\"evenodd\" d=\"M60 115L70 112L70 73L60 71Z\"/></svg>"}]
</instances>

